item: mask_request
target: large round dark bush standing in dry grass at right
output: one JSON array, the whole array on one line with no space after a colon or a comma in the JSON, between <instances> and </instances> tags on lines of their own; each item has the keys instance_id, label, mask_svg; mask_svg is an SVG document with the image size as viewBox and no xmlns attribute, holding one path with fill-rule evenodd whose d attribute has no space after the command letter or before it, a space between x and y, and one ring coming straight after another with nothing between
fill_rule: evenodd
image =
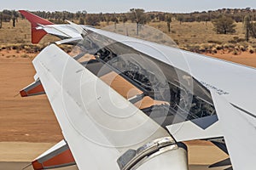
<instances>
[{"instance_id":1,"label":"large round dark bush standing in dry grass at right","mask_svg":"<svg viewBox=\"0 0 256 170\"><path fill-rule=\"evenodd\" d=\"M218 34L228 34L236 32L236 25L234 24L234 20L232 20L230 17L221 15L220 17L218 17L218 19L212 20L212 24L214 26L214 30Z\"/></svg>"}]
</instances>

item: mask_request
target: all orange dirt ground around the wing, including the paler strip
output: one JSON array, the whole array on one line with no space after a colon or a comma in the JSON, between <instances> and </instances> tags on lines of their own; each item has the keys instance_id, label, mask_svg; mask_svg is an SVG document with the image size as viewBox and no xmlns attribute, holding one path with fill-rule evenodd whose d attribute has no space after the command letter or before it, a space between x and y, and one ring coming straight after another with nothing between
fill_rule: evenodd
<instances>
[{"instance_id":1,"label":"all orange dirt ground around the wing, including the paler strip","mask_svg":"<svg viewBox=\"0 0 256 170\"><path fill-rule=\"evenodd\" d=\"M61 128L45 95L29 98L16 95L33 82L35 74L32 58L36 54L22 55L15 51L0 52L0 161L31 161L62 139ZM256 67L256 54L211 55ZM227 157L208 142L187 144L190 164L211 164Z\"/></svg>"}]
</instances>

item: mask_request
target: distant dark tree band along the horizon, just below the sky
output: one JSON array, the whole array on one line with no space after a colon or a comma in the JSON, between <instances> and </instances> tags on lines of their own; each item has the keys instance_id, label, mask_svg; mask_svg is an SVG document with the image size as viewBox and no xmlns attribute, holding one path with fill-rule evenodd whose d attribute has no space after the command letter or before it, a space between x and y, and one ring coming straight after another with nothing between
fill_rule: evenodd
<instances>
[{"instance_id":1,"label":"distant dark tree band along the horizon, just below the sky","mask_svg":"<svg viewBox=\"0 0 256 170\"><path fill-rule=\"evenodd\" d=\"M46 11L34 11L33 14L37 14L38 16L54 21L56 24L63 23L65 20L79 20L79 22L92 22L93 25L99 24L101 21L105 22L126 22L127 20L131 20L136 22L133 15L133 9L130 9L126 13L120 14L88 14L86 10L78 11L76 13L71 13L68 11L55 11L55 12L46 12ZM242 22L245 16L249 16L251 20L256 21L256 9L251 8L222 8L218 10L208 10L202 12L193 12L187 14L177 14L177 13L163 13L163 12L146 12L143 8L137 9L138 13L143 12L145 16L143 16L142 22L158 22L158 21L167 21L170 20L170 16L172 20L178 20L182 22L201 22L201 21L212 21L219 18L220 15L225 15L226 17L235 20L236 22ZM20 16L20 14L15 10L3 10L0 12L0 20L2 22L9 22L10 20L16 19Z\"/></svg>"}]
</instances>

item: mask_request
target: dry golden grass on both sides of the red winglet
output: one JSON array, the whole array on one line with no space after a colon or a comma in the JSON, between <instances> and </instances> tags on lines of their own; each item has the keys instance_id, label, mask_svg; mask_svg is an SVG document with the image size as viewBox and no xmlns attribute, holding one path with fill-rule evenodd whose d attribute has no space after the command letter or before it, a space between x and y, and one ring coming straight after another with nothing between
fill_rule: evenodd
<instances>
[{"instance_id":1,"label":"dry golden grass on both sides of the red winglet","mask_svg":"<svg viewBox=\"0 0 256 170\"><path fill-rule=\"evenodd\" d=\"M111 25L113 26L113 22L109 22L108 25L106 22L102 22L101 26L97 27L102 28ZM123 24L120 23L119 25L122 26ZM167 32L166 22L151 22L148 26L152 26L166 33L174 42L177 42L180 48L199 53L215 53L216 50L223 48L238 54L242 49L247 49L254 53L254 48L256 48L254 45L256 42L255 38L250 38L250 42L242 40L244 39L242 23L236 23L236 33L229 35L216 34L216 32L213 31L212 22L183 22L180 24L178 21L172 21L170 33ZM155 36L157 35L152 36L151 39L156 39ZM43 48L48 42L54 42L56 40L56 37L46 36L39 43L39 47ZM240 41L237 42L237 40ZM15 28L12 27L11 22L3 23L3 28L0 29L0 47L12 48L13 46L18 46L16 50L19 52L19 45L21 45L21 48L23 48L24 45L31 47L30 23L27 20L20 19Z\"/></svg>"}]
</instances>

